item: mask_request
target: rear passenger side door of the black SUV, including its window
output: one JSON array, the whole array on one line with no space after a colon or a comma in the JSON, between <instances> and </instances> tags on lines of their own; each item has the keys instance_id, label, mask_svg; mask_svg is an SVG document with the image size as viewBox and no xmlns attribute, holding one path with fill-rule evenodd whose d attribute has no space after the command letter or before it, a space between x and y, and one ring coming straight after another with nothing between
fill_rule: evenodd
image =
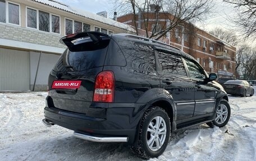
<instances>
[{"instance_id":1,"label":"rear passenger side door of the black SUV, including its window","mask_svg":"<svg viewBox=\"0 0 256 161\"><path fill-rule=\"evenodd\" d=\"M175 100L176 120L193 117L195 108L194 82L186 75L184 63L179 54L164 49L157 49L162 67L159 72L162 88L166 89Z\"/></svg>"}]
</instances>

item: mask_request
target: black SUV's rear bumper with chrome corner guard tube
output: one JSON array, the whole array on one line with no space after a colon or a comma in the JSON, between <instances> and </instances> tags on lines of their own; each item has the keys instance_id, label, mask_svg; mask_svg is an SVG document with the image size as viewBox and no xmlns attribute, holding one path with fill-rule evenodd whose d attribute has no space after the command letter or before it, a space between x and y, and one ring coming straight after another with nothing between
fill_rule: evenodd
<instances>
[{"instance_id":1,"label":"black SUV's rear bumper with chrome corner guard tube","mask_svg":"<svg viewBox=\"0 0 256 161\"><path fill-rule=\"evenodd\" d=\"M118 105L118 104L116 104ZM135 141L136 129L143 113L138 110L140 104L127 104L132 107L115 107L106 109L106 118L86 116L86 114L69 112L58 108L44 108L44 124L59 125L75 131L80 139L97 142L128 142Z\"/></svg>"}]
</instances>

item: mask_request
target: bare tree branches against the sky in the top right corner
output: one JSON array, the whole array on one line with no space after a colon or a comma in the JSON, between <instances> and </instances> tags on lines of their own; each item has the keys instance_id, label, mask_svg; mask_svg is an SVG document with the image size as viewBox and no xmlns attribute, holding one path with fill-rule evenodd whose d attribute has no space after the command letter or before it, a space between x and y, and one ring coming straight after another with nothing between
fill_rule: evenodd
<instances>
[{"instance_id":1,"label":"bare tree branches against the sky in the top right corner","mask_svg":"<svg viewBox=\"0 0 256 161\"><path fill-rule=\"evenodd\" d=\"M255 0L224 0L234 5L237 13L232 21L245 32L246 38L256 39L256 1Z\"/></svg>"}]
</instances>

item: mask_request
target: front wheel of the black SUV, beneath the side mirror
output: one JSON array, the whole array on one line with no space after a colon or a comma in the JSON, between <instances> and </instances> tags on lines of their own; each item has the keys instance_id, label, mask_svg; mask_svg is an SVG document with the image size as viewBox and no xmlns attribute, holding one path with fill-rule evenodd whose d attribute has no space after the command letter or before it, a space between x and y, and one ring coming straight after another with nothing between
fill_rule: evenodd
<instances>
[{"instance_id":1,"label":"front wheel of the black SUV, beneath the side mirror","mask_svg":"<svg viewBox=\"0 0 256 161\"><path fill-rule=\"evenodd\" d=\"M220 104L217 107L216 117L212 121L215 126L223 127L227 125L227 122L230 119L230 105L228 104L227 100L222 99Z\"/></svg>"}]
</instances>

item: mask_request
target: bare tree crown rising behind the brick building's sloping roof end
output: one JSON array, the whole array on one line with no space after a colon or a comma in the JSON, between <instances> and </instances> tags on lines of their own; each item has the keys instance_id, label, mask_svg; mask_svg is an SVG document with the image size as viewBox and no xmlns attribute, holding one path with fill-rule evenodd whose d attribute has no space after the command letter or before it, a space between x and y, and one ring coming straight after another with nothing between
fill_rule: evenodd
<instances>
[{"instance_id":1,"label":"bare tree crown rising behind the brick building's sloping roof end","mask_svg":"<svg viewBox=\"0 0 256 161\"><path fill-rule=\"evenodd\" d=\"M237 45L239 42L234 31L227 31L219 27L216 27L215 29L209 31L209 33L221 40L224 40L226 43L234 46Z\"/></svg>"}]
</instances>

